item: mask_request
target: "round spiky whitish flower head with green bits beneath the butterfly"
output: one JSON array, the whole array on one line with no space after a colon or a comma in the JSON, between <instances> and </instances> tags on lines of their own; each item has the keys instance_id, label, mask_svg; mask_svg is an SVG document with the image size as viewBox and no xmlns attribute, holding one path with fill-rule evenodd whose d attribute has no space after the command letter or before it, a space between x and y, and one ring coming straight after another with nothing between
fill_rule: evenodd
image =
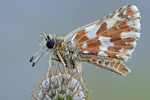
<instances>
[{"instance_id":1,"label":"round spiky whitish flower head with green bits beneath the butterfly","mask_svg":"<svg viewBox=\"0 0 150 100\"><path fill-rule=\"evenodd\" d=\"M33 100L87 100L89 93L80 81L80 75L73 70L67 73L59 65L48 69L47 76L43 73L44 81L37 84L36 93L32 90Z\"/></svg>"}]
</instances>

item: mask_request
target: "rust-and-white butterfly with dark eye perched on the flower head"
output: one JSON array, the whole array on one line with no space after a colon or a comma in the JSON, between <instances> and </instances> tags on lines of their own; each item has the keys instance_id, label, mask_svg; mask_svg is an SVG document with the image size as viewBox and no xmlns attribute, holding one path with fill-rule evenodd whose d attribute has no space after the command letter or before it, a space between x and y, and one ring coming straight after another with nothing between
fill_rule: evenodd
<instances>
[{"instance_id":1,"label":"rust-and-white butterfly with dark eye perched on the flower head","mask_svg":"<svg viewBox=\"0 0 150 100\"><path fill-rule=\"evenodd\" d=\"M126 76L130 69L123 62L131 57L140 37L140 18L137 7L128 5L65 37L41 33L41 50L30 62L34 66L47 52L66 68L81 71L78 66L86 61Z\"/></svg>"}]
</instances>

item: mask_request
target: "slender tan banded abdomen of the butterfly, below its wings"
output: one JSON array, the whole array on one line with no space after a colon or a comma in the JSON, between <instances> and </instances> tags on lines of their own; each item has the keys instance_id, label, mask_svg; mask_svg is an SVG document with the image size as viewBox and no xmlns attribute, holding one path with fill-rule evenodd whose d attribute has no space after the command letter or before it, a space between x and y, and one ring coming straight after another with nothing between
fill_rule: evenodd
<instances>
[{"instance_id":1,"label":"slender tan banded abdomen of the butterfly, below its wings","mask_svg":"<svg viewBox=\"0 0 150 100\"><path fill-rule=\"evenodd\" d=\"M96 64L101 68L111 70L123 76L126 76L129 72L131 72L130 69L125 64L116 59L112 58L106 59L105 57L98 57L94 55L85 55L85 54L81 54L81 59L82 61L87 61Z\"/></svg>"}]
</instances>

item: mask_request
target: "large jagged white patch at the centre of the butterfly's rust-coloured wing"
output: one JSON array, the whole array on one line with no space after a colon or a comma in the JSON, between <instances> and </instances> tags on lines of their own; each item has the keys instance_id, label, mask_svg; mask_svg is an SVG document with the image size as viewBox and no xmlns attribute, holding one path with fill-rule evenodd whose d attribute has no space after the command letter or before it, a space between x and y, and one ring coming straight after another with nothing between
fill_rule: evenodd
<instances>
[{"instance_id":1,"label":"large jagged white patch at the centre of the butterfly's rust-coloured wing","mask_svg":"<svg viewBox=\"0 0 150 100\"><path fill-rule=\"evenodd\" d=\"M108 51L108 47L114 46L115 44L110 42L110 37L100 36L98 40L101 42L101 46L99 47L102 51Z\"/></svg>"}]
</instances>

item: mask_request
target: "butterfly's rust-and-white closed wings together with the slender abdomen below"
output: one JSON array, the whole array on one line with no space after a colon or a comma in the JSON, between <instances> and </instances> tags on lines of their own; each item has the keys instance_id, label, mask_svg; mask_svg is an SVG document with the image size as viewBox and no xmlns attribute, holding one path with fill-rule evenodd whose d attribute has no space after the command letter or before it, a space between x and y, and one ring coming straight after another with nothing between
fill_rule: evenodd
<instances>
[{"instance_id":1,"label":"butterfly's rust-and-white closed wings together with the slender abdomen below","mask_svg":"<svg viewBox=\"0 0 150 100\"><path fill-rule=\"evenodd\" d=\"M72 31L65 42L79 48L81 60L127 75L130 70L122 61L131 57L139 31L140 13L136 6L129 5Z\"/></svg>"}]
</instances>

